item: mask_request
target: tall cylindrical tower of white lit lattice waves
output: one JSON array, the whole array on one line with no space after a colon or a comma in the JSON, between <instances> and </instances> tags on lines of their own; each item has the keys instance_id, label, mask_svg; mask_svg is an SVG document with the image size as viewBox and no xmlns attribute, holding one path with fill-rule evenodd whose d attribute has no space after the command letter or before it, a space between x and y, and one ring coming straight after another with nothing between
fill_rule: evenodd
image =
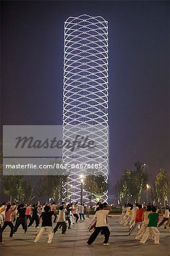
<instances>
[{"instance_id":1,"label":"tall cylindrical tower of white lit lattice waves","mask_svg":"<svg viewBox=\"0 0 170 256\"><path fill-rule=\"evenodd\" d=\"M95 175L107 180L108 166L108 26L101 16L69 17L64 24L63 141L76 134L89 136L96 147L71 152L63 148L67 164L101 164ZM88 170L71 168L68 191L80 201L80 176ZM84 199L87 197L84 193ZM107 200L107 193L102 195Z\"/></svg>"}]
</instances>

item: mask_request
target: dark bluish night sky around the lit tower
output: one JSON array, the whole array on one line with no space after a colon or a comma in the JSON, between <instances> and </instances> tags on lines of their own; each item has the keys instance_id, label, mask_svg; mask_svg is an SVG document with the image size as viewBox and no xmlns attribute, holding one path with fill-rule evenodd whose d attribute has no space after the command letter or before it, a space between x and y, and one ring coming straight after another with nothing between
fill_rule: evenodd
<instances>
[{"instance_id":1,"label":"dark bluish night sky around the lit tower","mask_svg":"<svg viewBox=\"0 0 170 256\"><path fill-rule=\"evenodd\" d=\"M110 188L123 168L169 169L168 1L1 1L1 124L61 125L64 21L109 22Z\"/></svg>"}]
</instances>

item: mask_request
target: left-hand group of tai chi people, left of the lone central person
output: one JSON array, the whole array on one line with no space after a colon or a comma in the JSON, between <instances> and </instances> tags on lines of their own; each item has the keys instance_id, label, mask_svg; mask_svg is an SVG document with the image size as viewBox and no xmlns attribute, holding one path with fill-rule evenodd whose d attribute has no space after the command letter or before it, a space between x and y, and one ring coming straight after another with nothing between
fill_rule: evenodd
<instances>
[{"instance_id":1,"label":"left-hand group of tai chi people, left of the lone central person","mask_svg":"<svg viewBox=\"0 0 170 256\"><path fill-rule=\"evenodd\" d=\"M38 232L34 242L37 243L43 233L47 230L48 243L51 243L53 234L55 234L59 228L61 228L62 234L65 234L67 223L68 229L71 229L71 226L78 221L79 217L80 220L85 220L83 204L78 205L78 203L72 203L66 205L65 202L62 202L62 205L59 207L57 224L55 228L52 229L52 216L55 216L53 222L56 222L57 212L58 210L55 202L52 204L45 202L43 206L40 205L39 201L33 205L26 205L23 203L19 205L14 203L11 205L10 202L2 203L0 208L0 243L3 243L2 233L7 226L10 226L11 229L10 237L13 237L13 234L17 232L20 225L22 225L24 233L27 233L27 229L33 226L35 222L35 228L38 229ZM28 219L30 222L27 225ZM13 222L15 222L15 225ZM40 229L39 224L42 224Z\"/></svg>"}]
</instances>

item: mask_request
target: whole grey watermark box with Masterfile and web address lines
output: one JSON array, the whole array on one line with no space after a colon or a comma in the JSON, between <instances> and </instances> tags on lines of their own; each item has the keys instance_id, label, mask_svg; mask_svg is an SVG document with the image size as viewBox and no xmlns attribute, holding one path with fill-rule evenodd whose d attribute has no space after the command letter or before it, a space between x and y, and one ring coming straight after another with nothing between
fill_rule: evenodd
<instances>
[{"instance_id":1,"label":"whole grey watermark box with Masterfile and web address lines","mask_svg":"<svg viewBox=\"0 0 170 256\"><path fill-rule=\"evenodd\" d=\"M105 125L3 126L3 175L104 175L108 135Z\"/></svg>"}]
</instances>

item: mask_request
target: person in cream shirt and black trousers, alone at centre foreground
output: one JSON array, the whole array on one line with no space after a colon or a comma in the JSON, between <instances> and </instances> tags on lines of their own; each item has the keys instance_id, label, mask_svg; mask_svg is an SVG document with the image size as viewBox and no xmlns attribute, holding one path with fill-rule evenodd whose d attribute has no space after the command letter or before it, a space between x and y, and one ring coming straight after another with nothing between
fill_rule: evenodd
<instances>
[{"instance_id":1,"label":"person in cream shirt and black trousers, alone at centre foreground","mask_svg":"<svg viewBox=\"0 0 170 256\"><path fill-rule=\"evenodd\" d=\"M99 210L94 215L93 220L90 222L89 226L92 224L94 219L96 219L96 228L94 229L94 232L89 237L88 242L86 245L91 245L97 238L98 234L102 231L102 233L105 236L105 240L103 242L103 245L110 245L108 243L110 231L107 225L107 215L109 214L110 210L104 210L103 204L99 204Z\"/></svg>"}]
</instances>

